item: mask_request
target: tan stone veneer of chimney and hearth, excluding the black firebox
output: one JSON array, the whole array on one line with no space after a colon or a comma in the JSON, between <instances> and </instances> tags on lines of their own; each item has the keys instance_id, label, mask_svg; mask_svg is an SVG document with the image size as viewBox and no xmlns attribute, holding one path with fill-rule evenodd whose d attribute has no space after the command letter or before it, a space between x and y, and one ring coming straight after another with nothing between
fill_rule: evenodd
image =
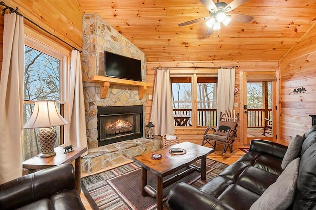
<instances>
[{"instance_id":1,"label":"tan stone veneer of chimney and hearth, excluding the black firebox","mask_svg":"<svg viewBox=\"0 0 316 210\"><path fill-rule=\"evenodd\" d=\"M101 99L100 84L90 83L89 79L93 75L105 75L104 51L110 51L141 60L142 81L145 81L145 54L97 14L84 14L82 28L82 77L89 153L82 159L82 171L92 172L95 171L95 168L100 168L99 166L106 167L110 163L118 163L117 160L125 161L126 157L131 157L131 154L141 154L153 148L148 146L148 140L146 139L134 140L132 143L126 141L127 143L123 142L98 148L97 106L143 105L143 122L145 124L145 97L139 99L138 87L110 85L106 98ZM143 145L139 147L140 143L143 143ZM133 145L132 147L135 148L127 148L129 145ZM130 149L131 152L126 152L127 149ZM122 152L118 155L117 151L119 150ZM112 151L113 156L117 157L107 161L109 151ZM138 153L135 151L138 151ZM102 159L102 163L96 164L100 162L100 159Z\"/></svg>"}]
</instances>

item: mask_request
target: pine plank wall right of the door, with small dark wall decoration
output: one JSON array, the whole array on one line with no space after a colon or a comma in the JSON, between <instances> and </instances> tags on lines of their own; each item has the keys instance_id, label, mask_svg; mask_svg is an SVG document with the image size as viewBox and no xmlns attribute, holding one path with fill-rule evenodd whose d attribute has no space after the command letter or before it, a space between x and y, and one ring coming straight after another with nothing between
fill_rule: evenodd
<instances>
[{"instance_id":1,"label":"pine plank wall right of the door, with small dark wall decoration","mask_svg":"<svg viewBox=\"0 0 316 210\"><path fill-rule=\"evenodd\" d=\"M280 61L281 138L289 142L311 127L316 114L316 24ZM293 93L304 87L305 93Z\"/></svg>"}]
</instances>

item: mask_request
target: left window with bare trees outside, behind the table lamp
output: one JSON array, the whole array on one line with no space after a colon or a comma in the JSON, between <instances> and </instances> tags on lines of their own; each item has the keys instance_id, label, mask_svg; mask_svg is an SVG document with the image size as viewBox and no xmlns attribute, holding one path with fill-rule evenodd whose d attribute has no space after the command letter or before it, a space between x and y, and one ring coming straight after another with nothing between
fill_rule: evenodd
<instances>
[{"instance_id":1,"label":"left window with bare trees outside, behind the table lamp","mask_svg":"<svg viewBox=\"0 0 316 210\"><path fill-rule=\"evenodd\" d=\"M64 116L65 90L64 71L65 55L32 40L26 40L24 71L24 123L30 118L36 100L55 100ZM67 119L66 119L67 120ZM23 129L23 160L40 154L37 140L39 129ZM57 126L58 140L55 147L63 144L64 127Z\"/></svg>"}]
</instances>

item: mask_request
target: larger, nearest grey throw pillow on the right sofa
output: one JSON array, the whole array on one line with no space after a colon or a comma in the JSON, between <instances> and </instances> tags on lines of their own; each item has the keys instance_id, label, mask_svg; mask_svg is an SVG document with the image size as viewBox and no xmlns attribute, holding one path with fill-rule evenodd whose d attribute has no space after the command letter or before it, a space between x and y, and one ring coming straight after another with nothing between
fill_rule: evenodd
<instances>
[{"instance_id":1,"label":"larger, nearest grey throw pillow on the right sofa","mask_svg":"<svg viewBox=\"0 0 316 210\"><path fill-rule=\"evenodd\" d=\"M255 201L250 210L285 210L294 200L300 158L293 160L276 182L271 184Z\"/></svg>"}]
</instances>

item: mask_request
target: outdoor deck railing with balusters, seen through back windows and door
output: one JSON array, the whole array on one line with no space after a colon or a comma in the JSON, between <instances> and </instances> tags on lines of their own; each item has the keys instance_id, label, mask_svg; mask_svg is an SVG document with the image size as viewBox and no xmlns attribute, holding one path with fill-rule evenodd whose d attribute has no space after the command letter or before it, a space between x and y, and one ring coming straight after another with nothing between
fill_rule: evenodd
<instances>
[{"instance_id":1,"label":"outdoor deck railing with balusters, seen through back windows and door","mask_svg":"<svg viewBox=\"0 0 316 210\"><path fill-rule=\"evenodd\" d=\"M265 116L264 113L264 109L248 109L248 128L263 128L264 118L271 119L272 110L268 109L268 116ZM190 120L185 126L192 126L191 109L173 109L173 114L190 116ZM216 118L216 109L197 109L197 126L216 127Z\"/></svg>"}]
</instances>

